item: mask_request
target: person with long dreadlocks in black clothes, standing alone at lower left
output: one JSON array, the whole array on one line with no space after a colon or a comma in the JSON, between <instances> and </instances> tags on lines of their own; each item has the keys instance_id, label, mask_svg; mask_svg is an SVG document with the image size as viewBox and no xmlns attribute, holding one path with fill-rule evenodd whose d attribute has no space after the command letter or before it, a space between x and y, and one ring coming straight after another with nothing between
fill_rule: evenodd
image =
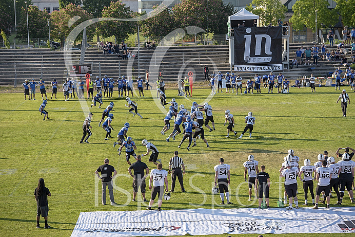
<instances>
[{"instance_id":1,"label":"person with long dreadlocks in black clothes, standing alone at lower left","mask_svg":"<svg viewBox=\"0 0 355 237\"><path fill-rule=\"evenodd\" d=\"M34 197L37 202L37 228L40 228L40 216L45 218L45 229L50 228L48 225L48 200L47 196L51 196L49 189L44 185L44 179L38 179L38 186L34 190Z\"/></svg>"}]
</instances>

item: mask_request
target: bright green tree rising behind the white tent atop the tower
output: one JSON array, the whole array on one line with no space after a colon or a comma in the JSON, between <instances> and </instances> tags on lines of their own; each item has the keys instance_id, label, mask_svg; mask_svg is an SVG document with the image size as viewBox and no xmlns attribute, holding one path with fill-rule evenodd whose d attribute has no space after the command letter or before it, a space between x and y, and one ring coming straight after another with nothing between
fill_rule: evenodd
<instances>
[{"instance_id":1,"label":"bright green tree rising behind the white tent atop the tower","mask_svg":"<svg viewBox=\"0 0 355 237\"><path fill-rule=\"evenodd\" d=\"M252 6L255 6L255 8ZM253 0L245 9L259 15L261 26L268 26L270 23L276 26L278 20L283 20L287 12L287 8L280 0Z\"/></svg>"}]
</instances>

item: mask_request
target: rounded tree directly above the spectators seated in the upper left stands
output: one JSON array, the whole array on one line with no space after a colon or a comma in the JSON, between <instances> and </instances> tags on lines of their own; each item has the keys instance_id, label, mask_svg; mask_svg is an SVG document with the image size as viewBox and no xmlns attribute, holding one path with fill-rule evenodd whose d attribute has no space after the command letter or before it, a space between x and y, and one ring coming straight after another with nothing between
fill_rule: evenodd
<instances>
[{"instance_id":1,"label":"rounded tree directly above the spectators seated in the upper left stands","mask_svg":"<svg viewBox=\"0 0 355 237\"><path fill-rule=\"evenodd\" d=\"M106 18L130 19L133 16L133 11L121 1L111 2L110 6L102 10L102 17ZM102 37L114 36L119 42L128 39L129 34L135 32L136 26L137 23L133 21L101 21L97 23L96 30Z\"/></svg>"}]
</instances>

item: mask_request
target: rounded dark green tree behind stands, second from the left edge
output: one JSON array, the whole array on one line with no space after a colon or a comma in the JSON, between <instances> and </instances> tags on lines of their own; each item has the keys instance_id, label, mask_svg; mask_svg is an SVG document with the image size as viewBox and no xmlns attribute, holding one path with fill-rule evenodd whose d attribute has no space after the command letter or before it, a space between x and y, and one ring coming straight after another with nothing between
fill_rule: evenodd
<instances>
[{"instance_id":1,"label":"rounded dark green tree behind stands, second from the left edge","mask_svg":"<svg viewBox=\"0 0 355 237\"><path fill-rule=\"evenodd\" d=\"M17 25L16 38L27 38L26 8L21 10L21 22ZM28 31L30 38L47 38L50 16L47 11L41 11L37 6L28 7Z\"/></svg>"}]
</instances>

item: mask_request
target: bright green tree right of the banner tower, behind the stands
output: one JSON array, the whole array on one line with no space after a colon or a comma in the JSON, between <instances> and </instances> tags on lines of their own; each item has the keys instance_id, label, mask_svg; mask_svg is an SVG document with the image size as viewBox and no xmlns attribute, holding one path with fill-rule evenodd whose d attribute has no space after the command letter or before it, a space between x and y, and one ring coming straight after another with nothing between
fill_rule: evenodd
<instances>
[{"instance_id":1,"label":"bright green tree right of the banner tower, behind the stands","mask_svg":"<svg viewBox=\"0 0 355 237\"><path fill-rule=\"evenodd\" d=\"M301 30L304 26L315 32L315 10L317 12L317 28L334 26L339 16L336 11L328 8L327 0L299 0L293 6L293 15L290 19L292 28ZM323 25L323 26L322 26Z\"/></svg>"}]
</instances>

